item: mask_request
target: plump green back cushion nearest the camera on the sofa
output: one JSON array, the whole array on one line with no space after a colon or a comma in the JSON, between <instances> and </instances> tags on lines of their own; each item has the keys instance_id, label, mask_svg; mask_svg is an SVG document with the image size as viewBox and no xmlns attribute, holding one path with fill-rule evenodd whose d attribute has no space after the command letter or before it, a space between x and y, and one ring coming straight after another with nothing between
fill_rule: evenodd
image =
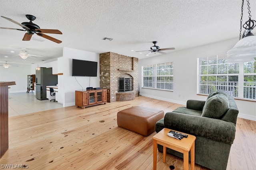
<instances>
[{"instance_id":1,"label":"plump green back cushion nearest the camera on the sofa","mask_svg":"<svg viewBox=\"0 0 256 170\"><path fill-rule=\"evenodd\" d=\"M219 119L228 110L228 98L224 94L216 94L208 98L202 111L203 117Z\"/></svg>"}]
</instances>

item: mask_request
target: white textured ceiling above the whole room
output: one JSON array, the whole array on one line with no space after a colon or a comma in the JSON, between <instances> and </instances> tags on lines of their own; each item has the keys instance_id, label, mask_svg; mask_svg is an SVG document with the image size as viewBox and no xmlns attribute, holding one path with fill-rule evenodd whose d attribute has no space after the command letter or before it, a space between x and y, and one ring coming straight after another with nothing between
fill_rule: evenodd
<instances>
[{"instance_id":1,"label":"white textured ceiling above the whole room","mask_svg":"<svg viewBox=\"0 0 256 170\"><path fill-rule=\"evenodd\" d=\"M256 20L256 0L250 0L252 20ZM0 15L19 23L36 16L41 29L59 29L62 35L47 34L62 41L57 44L22 41L25 31L0 29L0 61L23 62L20 57L2 53L26 48L24 64L62 56L62 47L130 57L146 58L135 51L150 50L152 41L160 48L192 48L226 39L239 39L241 0L1 0ZM244 2L243 23L248 20ZM0 18L0 27L21 29ZM253 31L255 34L255 29ZM102 40L104 37L112 41ZM134 51L131 51L134 50ZM165 51L171 53L173 51ZM161 55L152 53L149 57ZM9 56L8 58L4 56ZM74 54L75 57L75 54Z\"/></svg>"}]
</instances>

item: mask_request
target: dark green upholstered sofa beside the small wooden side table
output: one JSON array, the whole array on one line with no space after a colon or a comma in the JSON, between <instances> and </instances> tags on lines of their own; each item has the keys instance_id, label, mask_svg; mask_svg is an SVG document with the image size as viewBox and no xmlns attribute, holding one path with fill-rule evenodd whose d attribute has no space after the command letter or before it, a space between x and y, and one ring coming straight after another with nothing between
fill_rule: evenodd
<instances>
[{"instance_id":1,"label":"dark green upholstered sofa beside the small wooden side table","mask_svg":"<svg viewBox=\"0 0 256 170\"><path fill-rule=\"evenodd\" d=\"M210 93L206 101L188 100L186 107L167 112L156 122L156 132L165 127L196 136L195 163L212 170L226 170L237 115L234 98L219 90ZM158 151L162 150L158 145ZM167 149L167 153L183 158L183 154L172 149Z\"/></svg>"}]
</instances>

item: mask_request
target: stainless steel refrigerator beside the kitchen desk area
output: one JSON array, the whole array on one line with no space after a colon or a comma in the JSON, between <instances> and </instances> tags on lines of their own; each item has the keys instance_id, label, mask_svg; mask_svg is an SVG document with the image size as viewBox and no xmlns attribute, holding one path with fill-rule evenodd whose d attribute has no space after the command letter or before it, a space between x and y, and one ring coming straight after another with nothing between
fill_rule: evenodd
<instances>
[{"instance_id":1,"label":"stainless steel refrigerator beside the kitchen desk area","mask_svg":"<svg viewBox=\"0 0 256 170\"><path fill-rule=\"evenodd\" d=\"M36 98L46 100L46 86L56 86L58 76L52 75L52 68L36 68Z\"/></svg>"}]
</instances>

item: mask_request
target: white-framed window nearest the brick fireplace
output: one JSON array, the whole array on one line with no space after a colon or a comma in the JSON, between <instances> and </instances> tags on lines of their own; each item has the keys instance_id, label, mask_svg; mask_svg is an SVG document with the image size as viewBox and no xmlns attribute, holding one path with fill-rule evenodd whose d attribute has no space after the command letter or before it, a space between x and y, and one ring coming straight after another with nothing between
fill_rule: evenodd
<instances>
[{"instance_id":1,"label":"white-framed window nearest the brick fireplace","mask_svg":"<svg viewBox=\"0 0 256 170\"><path fill-rule=\"evenodd\" d=\"M173 62L142 66L142 87L173 90Z\"/></svg>"}]
</instances>

